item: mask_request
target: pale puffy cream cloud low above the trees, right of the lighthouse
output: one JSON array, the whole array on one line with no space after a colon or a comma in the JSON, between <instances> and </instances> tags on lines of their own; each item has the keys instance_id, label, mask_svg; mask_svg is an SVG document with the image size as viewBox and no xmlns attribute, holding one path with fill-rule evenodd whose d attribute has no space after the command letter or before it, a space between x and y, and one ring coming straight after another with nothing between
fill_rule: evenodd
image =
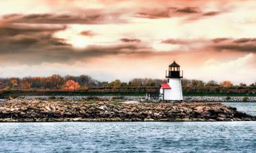
<instances>
[{"instance_id":1,"label":"pale puffy cream cloud low above the trees, right of the lighthouse","mask_svg":"<svg viewBox=\"0 0 256 153\"><path fill-rule=\"evenodd\" d=\"M253 53L245 54L240 58L231 61L218 61L214 58L205 61L201 71L204 72L203 78L208 80L231 80L236 84L240 82L251 83L255 80L256 56ZM220 76L219 74L223 74Z\"/></svg>"}]
</instances>

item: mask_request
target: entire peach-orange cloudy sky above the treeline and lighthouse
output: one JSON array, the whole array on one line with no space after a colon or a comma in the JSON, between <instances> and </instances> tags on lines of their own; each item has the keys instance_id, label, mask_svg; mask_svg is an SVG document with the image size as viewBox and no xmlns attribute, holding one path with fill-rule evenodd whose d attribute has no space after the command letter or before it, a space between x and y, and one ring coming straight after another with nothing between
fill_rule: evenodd
<instances>
[{"instance_id":1,"label":"entire peach-orange cloudy sky above the treeline and lighthouse","mask_svg":"<svg viewBox=\"0 0 256 153\"><path fill-rule=\"evenodd\" d=\"M254 0L0 1L0 77L256 82Z\"/></svg>"}]
</instances>

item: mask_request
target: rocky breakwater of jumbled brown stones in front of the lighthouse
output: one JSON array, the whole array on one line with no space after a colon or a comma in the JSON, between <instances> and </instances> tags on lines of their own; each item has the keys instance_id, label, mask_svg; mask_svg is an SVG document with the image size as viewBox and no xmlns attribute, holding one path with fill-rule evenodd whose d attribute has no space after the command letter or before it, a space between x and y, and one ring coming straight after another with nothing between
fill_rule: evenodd
<instances>
[{"instance_id":1,"label":"rocky breakwater of jumbled brown stones in front of the lighthouse","mask_svg":"<svg viewBox=\"0 0 256 153\"><path fill-rule=\"evenodd\" d=\"M0 122L233 120L256 120L256 118L221 103L119 103L17 99L0 103Z\"/></svg>"}]
</instances>

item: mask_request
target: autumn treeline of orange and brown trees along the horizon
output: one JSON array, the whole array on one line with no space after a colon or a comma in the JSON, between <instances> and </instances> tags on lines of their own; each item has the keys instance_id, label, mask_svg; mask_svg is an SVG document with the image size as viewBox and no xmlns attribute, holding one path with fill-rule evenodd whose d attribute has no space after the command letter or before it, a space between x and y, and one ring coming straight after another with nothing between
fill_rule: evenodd
<instances>
[{"instance_id":1,"label":"autumn treeline of orange and brown trees along the horizon","mask_svg":"<svg viewBox=\"0 0 256 153\"><path fill-rule=\"evenodd\" d=\"M2 90L87 90L88 88L102 87L139 87L151 86L159 87L162 82L167 80L158 80L150 78L134 78L129 82L121 82L114 80L113 82L100 82L94 80L89 75L51 75L48 77L26 77L26 78L0 78L0 89ZM231 87L230 81L217 83L214 80L203 82L202 80L182 79L183 87L199 87L199 86L224 86ZM247 86L241 83L239 86ZM256 86L250 84L249 86Z\"/></svg>"}]
</instances>

